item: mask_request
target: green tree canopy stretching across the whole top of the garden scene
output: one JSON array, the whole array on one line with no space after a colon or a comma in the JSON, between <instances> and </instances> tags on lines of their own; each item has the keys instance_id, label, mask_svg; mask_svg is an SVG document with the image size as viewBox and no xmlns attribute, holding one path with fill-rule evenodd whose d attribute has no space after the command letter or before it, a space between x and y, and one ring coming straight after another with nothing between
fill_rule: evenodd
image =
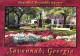
<instances>
[{"instance_id":1,"label":"green tree canopy stretching across the whole top of the garden scene","mask_svg":"<svg viewBox=\"0 0 80 56\"><path fill-rule=\"evenodd\" d=\"M31 19L40 19L40 12L42 19L47 19L48 16L53 14L66 16L66 19L76 16L76 7L6 7L6 18L13 16L14 13L18 17L18 21L30 21ZM55 15L55 16L56 16ZM48 27L48 26L45 26Z\"/></svg>"}]
</instances>

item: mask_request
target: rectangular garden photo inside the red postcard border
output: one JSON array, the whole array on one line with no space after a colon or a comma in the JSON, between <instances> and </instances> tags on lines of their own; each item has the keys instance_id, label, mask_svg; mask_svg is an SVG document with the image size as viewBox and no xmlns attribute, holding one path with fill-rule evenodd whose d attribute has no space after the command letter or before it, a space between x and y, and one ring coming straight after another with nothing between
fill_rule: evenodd
<instances>
[{"instance_id":1,"label":"rectangular garden photo inside the red postcard border","mask_svg":"<svg viewBox=\"0 0 80 56\"><path fill-rule=\"evenodd\" d=\"M76 47L76 7L5 7L5 47Z\"/></svg>"}]
</instances>

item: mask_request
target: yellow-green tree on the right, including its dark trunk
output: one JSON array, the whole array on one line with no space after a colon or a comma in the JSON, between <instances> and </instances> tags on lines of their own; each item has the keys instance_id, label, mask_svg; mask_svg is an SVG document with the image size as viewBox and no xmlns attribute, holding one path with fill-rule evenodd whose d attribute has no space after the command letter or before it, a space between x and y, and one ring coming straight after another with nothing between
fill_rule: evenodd
<instances>
[{"instance_id":1,"label":"yellow-green tree on the right, including its dark trunk","mask_svg":"<svg viewBox=\"0 0 80 56\"><path fill-rule=\"evenodd\" d=\"M61 16L64 16L64 24L63 24L64 27L66 24L66 19L73 17L74 14L76 13L76 7L53 7L53 9L51 9L49 12L50 13L47 13L46 15L59 14Z\"/></svg>"}]
</instances>

